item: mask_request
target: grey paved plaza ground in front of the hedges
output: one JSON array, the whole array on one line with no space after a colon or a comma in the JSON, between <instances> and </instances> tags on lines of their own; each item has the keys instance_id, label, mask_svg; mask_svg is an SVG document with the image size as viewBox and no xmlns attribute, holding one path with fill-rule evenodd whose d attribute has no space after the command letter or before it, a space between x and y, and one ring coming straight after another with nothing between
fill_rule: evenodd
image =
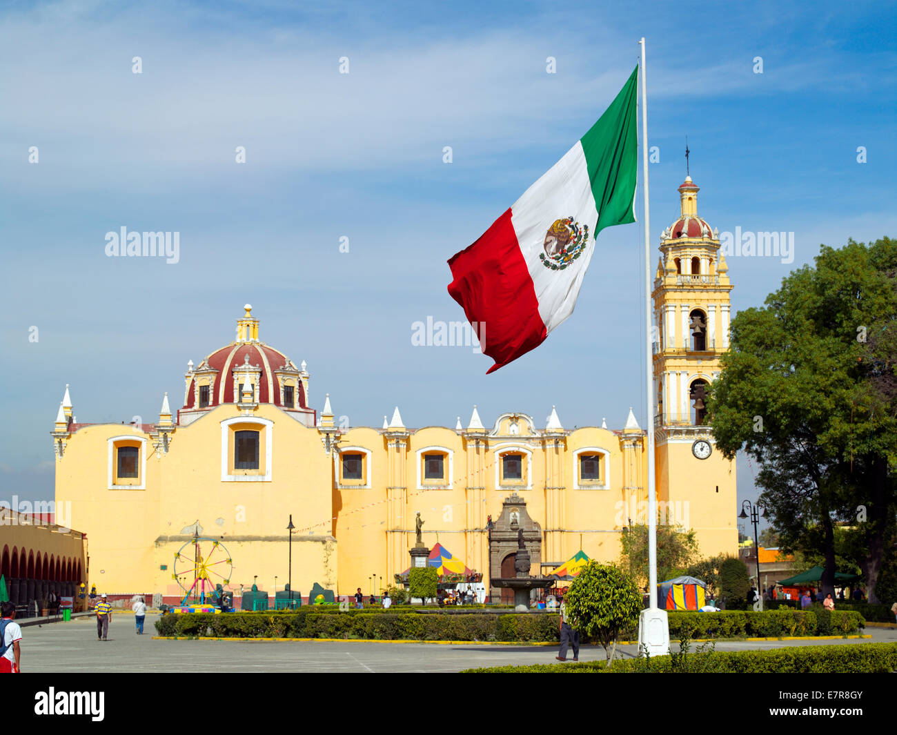
<instances>
[{"instance_id":1,"label":"grey paved plaza ground in front of the hedges","mask_svg":"<svg viewBox=\"0 0 897 735\"><path fill-rule=\"evenodd\" d=\"M68 623L22 628L24 672L452 672L481 666L557 663L555 646L466 643L231 642L153 640L158 616L148 615L144 635L135 634L134 617L114 615L109 641L97 640L93 617ZM733 641L718 651L745 651L794 645L852 645L897 642L897 629L867 628L871 638L826 641ZM674 646L677 648L677 646ZM634 656L635 646L618 649ZM583 647L579 661L605 658L604 649Z\"/></svg>"}]
</instances>

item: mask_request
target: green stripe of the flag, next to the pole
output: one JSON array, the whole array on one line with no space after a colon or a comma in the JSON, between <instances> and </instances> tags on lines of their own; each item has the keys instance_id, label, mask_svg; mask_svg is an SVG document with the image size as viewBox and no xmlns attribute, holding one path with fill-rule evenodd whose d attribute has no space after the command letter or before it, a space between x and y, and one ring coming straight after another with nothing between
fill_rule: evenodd
<instances>
[{"instance_id":1,"label":"green stripe of the flag, next to the pole","mask_svg":"<svg viewBox=\"0 0 897 735\"><path fill-rule=\"evenodd\" d=\"M636 101L639 67L579 143L586 155L588 180L595 197L598 221L595 237L605 227L635 222L632 206L639 168Z\"/></svg>"}]
</instances>

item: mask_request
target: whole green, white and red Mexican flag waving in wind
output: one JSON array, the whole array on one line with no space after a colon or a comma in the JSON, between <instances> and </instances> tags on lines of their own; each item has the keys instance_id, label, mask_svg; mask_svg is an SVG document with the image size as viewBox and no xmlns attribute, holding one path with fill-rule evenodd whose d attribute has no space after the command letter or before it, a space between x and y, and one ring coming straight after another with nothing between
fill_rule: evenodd
<instances>
[{"instance_id":1,"label":"whole green, white and red Mexican flag waving in wind","mask_svg":"<svg viewBox=\"0 0 897 735\"><path fill-rule=\"evenodd\" d=\"M542 344L573 313L598 232L635 222L638 71L559 162L448 260L448 293L495 361L487 373Z\"/></svg>"}]
</instances>

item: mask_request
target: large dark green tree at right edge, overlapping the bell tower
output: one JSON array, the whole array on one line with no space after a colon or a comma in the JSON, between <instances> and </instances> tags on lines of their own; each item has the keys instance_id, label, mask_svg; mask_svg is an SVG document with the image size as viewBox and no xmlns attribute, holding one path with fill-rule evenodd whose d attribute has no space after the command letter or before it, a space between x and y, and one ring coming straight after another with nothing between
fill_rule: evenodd
<instances>
[{"instance_id":1,"label":"large dark green tree at right edge, overlapping the bell tower","mask_svg":"<svg viewBox=\"0 0 897 735\"><path fill-rule=\"evenodd\" d=\"M760 465L781 546L823 555L834 590L835 526L862 535L870 599L892 538L897 468L897 241L823 246L765 307L740 312L710 389L718 449Z\"/></svg>"}]
</instances>

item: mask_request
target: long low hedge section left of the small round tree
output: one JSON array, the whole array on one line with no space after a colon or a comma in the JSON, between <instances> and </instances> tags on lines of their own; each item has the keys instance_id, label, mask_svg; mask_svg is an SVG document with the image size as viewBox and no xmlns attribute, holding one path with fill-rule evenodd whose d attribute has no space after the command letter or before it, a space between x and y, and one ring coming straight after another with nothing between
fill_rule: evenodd
<instances>
[{"instance_id":1,"label":"long low hedge section left of the small round tree","mask_svg":"<svg viewBox=\"0 0 897 735\"><path fill-rule=\"evenodd\" d=\"M219 638L361 638L379 641L557 641L559 618L549 615L422 615L420 613L247 613L166 615L161 635Z\"/></svg>"}]
</instances>

